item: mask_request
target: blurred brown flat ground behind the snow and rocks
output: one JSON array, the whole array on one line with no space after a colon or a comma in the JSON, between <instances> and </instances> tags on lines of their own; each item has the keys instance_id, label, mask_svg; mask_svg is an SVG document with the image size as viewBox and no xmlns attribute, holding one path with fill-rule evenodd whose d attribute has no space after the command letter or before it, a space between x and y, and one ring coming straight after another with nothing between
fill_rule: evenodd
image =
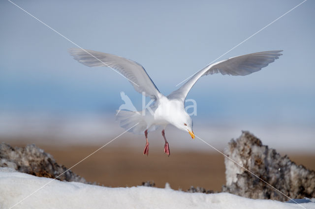
<instances>
[{"instance_id":1,"label":"blurred brown flat ground behind the snow and rocks","mask_svg":"<svg viewBox=\"0 0 315 209\"><path fill-rule=\"evenodd\" d=\"M26 144L11 143L12 146ZM50 153L59 164L67 168L87 157L97 146L48 146L37 145ZM220 153L171 150L167 157L162 148L153 147L149 156L142 154L143 147L104 147L71 170L89 182L104 186L136 186L154 181L157 187L170 183L173 189L200 186L221 191L225 184L224 158ZM159 151L159 152L158 152ZM284 155L284 153L282 153ZM315 155L287 154L297 164L315 170Z\"/></svg>"}]
</instances>

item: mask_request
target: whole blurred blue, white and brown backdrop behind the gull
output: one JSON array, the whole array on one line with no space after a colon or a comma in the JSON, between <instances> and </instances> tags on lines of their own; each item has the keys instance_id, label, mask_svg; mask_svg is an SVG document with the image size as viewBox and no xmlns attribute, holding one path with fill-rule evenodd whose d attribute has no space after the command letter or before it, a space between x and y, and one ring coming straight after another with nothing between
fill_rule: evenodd
<instances>
[{"instance_id":1,"label":"whole blurred blue, white and brown backdrop behind the gull","mask_svg":"<svg viewBox=\"0 0 315 209\"><path fill-rule=\"evenodd\" d=\"M17 5L85 49L141 63L161 93L217 59L301 0L48 1ZM0 2L0 141L34 143L68 167L124 130L115 110L124 91L138 110L142 96L109 68L88 68L76 47L10 3ZM201 78L187 99L197 102L196 135L219 150L242 130L315 169L315 2L306 1L219 60L268 50L283 56L245 77ZM219 61L218 60L218 61ZM149 99L147 98L147 102ZM189 105L189 104L188 104ZM189 134L168 127L171 156L160 131L125 133L73 171L107 186L154 180L175 188L224 183L223 157Z\"/></svg>"}]
</instances>

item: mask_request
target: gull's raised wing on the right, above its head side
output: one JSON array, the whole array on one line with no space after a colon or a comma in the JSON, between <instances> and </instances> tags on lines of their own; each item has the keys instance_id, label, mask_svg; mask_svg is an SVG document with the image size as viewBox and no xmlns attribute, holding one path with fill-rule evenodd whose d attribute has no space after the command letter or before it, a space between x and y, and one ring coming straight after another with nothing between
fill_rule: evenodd
<instances>
[{"instance_id":1,"label":"gull's raised wing on the right, above its head side","mask_svg":"<svg viewBox=\"0 0 315 209\"><path fill-rule=\"evenodd\" d=\"M209 74L221 73L222 75L246 76L261 70L269 63L274 62L282 54L279 51L256 52L242 56L234 56L213 64L210 64L194 74L184 85L167 96L168 99L185 101L187 94L197 80Z\"/></svg>"}]
</instances>

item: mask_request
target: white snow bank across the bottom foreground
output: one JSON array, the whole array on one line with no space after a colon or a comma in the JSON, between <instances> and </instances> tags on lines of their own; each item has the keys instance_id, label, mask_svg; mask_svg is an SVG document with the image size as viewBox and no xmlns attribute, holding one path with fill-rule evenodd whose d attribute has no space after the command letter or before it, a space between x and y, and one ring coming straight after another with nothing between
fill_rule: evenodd
<instances>
[{"instance_id":1,"label":"white snow bank across the bottom foreground","mask_svg":"<svg viewBox=\"0 0 315 209\"><path fill-rule=\"evenodd\" d=\"M24 208L207 208L207 209L315 209L315 202L300 206L273 200L253 200L229 193L187 193L167 188L146 186L110 188L76 182L35 177L8 168L0 168L0 208L6 209L48 183L16 205ZM51 182L51 183L49 183Z\"/></svg>"}]
</instances>

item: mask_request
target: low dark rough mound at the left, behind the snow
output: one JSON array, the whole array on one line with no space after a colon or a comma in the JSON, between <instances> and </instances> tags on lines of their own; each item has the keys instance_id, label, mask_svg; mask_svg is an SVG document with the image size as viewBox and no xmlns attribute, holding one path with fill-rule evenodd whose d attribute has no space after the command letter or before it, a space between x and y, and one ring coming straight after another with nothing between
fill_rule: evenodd
<instances>
[{"instance_id":1,"label":"low dark rough mound at the left, behind the snow","mask_svg":"<svg viewBox=\"0 0 315 209\"><path fill-rule=\"evenodd\" d=\"M33 144L27 145L25 148L13 148L8 144L1 143L0 167L13 168L16 171L38 177L53 179L57 177L61 181L88 183L84 178L72 171L66 171L67 168L57 164L53 156L45 153ZM63 172L65 173L59 176Z\"/></svg>"}]
</instances>

